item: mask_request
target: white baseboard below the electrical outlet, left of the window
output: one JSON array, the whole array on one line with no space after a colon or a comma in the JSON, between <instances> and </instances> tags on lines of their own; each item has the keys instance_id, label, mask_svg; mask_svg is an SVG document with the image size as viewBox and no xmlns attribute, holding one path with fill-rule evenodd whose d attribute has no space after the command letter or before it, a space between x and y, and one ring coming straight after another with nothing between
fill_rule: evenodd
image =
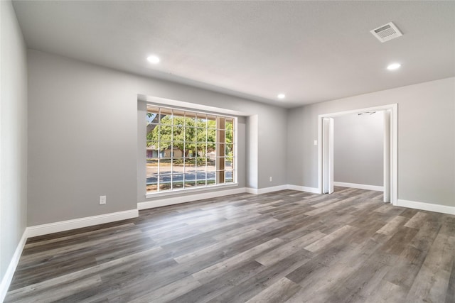
<instances>
[{"instance_id":1,"label":"white baseboard below the electrical outlet, left of the window","mask_svg":"<svg viewBox=\"0 0 455 303\"><path fill-rule=\"evenodd\" d=\"M137 218L137 216L139 216L139 211L137 211L137 209L131 209L128 211L117 211L110 214L100 214L98 216L87 216L85 218L30 226L27 228L28 230L27 236L28 237L43 236L49 233L69 231L70 229L75 228L82 228L98 224L105 224L114 221Z\"/></svg>"}]
</instances>

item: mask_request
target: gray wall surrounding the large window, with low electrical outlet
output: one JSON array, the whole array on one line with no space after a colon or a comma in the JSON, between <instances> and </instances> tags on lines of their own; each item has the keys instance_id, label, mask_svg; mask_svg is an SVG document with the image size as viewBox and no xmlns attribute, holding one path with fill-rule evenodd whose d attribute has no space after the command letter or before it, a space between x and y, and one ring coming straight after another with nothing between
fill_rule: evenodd
<instances>
[{"instance_id":1,"label":"gray wall surrounding the large window, with low electrical outlet","mask_svg":"<svg viewBox=\"0 0 455 303\"><path fill-rule=\"evenodd\" d=\"M36 50L28 84L28 226L137 208L138 94L257 114L257 186L286 184L285 109Z\"/></svg>"}]
</instances>

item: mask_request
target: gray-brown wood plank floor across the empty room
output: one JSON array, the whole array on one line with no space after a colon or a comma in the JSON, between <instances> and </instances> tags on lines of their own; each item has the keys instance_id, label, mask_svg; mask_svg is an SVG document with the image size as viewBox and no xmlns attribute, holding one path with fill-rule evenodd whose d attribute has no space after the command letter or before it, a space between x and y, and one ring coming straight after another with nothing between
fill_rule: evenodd
<instances>
[{"instance_id":1,"label":"gray-brown wood plank floor across the empty room","mask_svg":"<svg viewBox=\"0 0 455 303\"><path fill-rule=\"evenodd\" d=\"M455 302L455 216L284 190L28 239L5 302Z\"/></svg>"}]
</instances>

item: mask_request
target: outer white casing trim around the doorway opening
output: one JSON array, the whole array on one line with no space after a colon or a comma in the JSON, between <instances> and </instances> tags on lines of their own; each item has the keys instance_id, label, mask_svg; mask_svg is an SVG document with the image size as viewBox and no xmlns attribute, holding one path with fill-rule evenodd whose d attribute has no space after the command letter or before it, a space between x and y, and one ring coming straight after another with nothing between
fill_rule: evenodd
<instances>
[{"instance_id":1,"label":"outer white casing trim around the doorway opening","mask_svg":"<svg viewBox=\"0 0 455 303\"><path fill-rule=\"evenodd\" d=\"M343 116L346 114L359 114L364 111L389 111L390 112L390 202L397 205L398 199L398 104L338 111L318 116L318 189L323 193L323 119ZM386 179L385 179L386 180ZM385 186L386 187L386 186Z\"/></svg>"}]
</instances>

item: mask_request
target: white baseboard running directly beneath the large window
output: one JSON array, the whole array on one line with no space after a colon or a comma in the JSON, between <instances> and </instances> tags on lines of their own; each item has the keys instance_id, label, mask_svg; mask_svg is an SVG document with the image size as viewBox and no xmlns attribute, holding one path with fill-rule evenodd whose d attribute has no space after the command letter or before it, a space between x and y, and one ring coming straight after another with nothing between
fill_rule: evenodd
<instances>
[{"instance_id":1,"label":"white baseboard running directly beneath the large window","mask_svg":"<svg viewBox=\"0 0 455 303\"><path fill-rule=\"evenodd\" d=\"M180 197L154 199L153 201L138 202L137 209L139 209L139 210L154 209L156 207L181 204L181 203L192 202L192 201L197 201L197 200L202 200L202 199L222 197L222 196L227 196L229 194L244 194L245 192L247 192L245 187L240 187L240 188L236 188L236 189L218 190L215 192L203 192L201 194L189 194L189 195L180 196Z\"/></svg>"}]
</instances>

